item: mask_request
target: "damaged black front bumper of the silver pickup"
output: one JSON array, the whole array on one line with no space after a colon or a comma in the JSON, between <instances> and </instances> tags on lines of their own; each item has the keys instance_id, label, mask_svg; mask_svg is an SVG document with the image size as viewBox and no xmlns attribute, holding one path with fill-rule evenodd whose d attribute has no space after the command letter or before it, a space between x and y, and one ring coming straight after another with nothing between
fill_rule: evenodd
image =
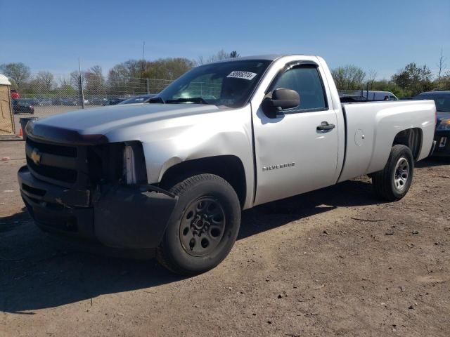
<instances>
[{"instance_id":1,"label":"damaged black front bumper of the silver pickup","mask_svg":"<svg viewBox=\"0 0 450 337\"><path fill-rule=\"evenodd\" d=\"M70 190L18 171L20 194L46 232L97 240L127 249L157 247L178 200L153 185L103 185L94 193Z\"/></svg>"}]
</instances>

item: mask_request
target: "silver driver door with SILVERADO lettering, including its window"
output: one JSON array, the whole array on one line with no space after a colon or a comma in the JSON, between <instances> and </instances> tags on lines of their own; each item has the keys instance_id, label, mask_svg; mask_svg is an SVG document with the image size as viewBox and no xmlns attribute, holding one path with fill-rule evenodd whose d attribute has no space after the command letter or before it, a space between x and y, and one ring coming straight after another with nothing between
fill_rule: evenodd
<instances>
[{"instance_id":1,"label":"silver driver door with SILVERADO lettering, including its window","mask_svg":"<svg viewBox=\"0 0 450 337\"><path fill-rule=\"evenodd\" d=\"M253 112L257 190L255 204L333 185L338 161L338 120L328 107L321 70L316 65L285 68L269 91L288 88L300 105L268 117ZM322 128L328 124L328 128Z\"/></svg>"}]
</instances>

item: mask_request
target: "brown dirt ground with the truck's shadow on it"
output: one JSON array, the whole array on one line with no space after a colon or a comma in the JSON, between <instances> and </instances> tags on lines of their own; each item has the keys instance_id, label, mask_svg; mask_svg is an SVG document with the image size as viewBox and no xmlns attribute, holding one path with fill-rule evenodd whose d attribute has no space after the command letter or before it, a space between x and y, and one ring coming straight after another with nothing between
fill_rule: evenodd
<instances>
[{"instance_id":1,"label":"brown dirt ground with the truck's shadow on it","mask_svg":"<svg viewBox=\"0 0 450 337\"><path fill-rule=\"evenodd\" d=\"M180 278L37 230L23 147L0 141L1 337L449 336L448 160L395 203L358 178L245 211L224 263Z\"/></svg>"}]
</instances>

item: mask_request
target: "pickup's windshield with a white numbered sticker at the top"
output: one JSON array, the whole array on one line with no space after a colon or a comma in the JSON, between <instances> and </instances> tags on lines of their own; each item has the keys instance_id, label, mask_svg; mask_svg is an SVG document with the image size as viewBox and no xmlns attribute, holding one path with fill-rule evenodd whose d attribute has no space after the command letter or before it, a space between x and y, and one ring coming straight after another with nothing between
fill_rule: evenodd
<instances>
[{"instance_id":1,"label":"pickup's windshield with a white numbered sticker at the top","mask_svg":"<svg viewBox=\"0 0 450 337\"><path fill-rule=\"evenodd\" d=\"M271 61L241 60L201 65L186 72L159 95L164 103L241 107ZM158 102L155 98L150 102Z\"/></svg>"}]
</instances>

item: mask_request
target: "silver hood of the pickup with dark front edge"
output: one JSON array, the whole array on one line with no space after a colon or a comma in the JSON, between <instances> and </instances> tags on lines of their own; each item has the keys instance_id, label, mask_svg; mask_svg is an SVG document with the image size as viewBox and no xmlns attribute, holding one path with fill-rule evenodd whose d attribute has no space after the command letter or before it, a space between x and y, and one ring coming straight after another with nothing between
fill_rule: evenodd
<instances>
[{"instance_id":1,"label":"silver hood of the pickup with dark front edge","mask_svg":"<svg viewBox=\"0 0 450 337\"><path fill-rule=\"evenodd\" d=\"M27 124L26 132L32 138L56 143L101 144L108 143L108 133L118 128L219 111L216 105L201 104L113 105L39 119Z\"/></svg>"}]
</instances>

